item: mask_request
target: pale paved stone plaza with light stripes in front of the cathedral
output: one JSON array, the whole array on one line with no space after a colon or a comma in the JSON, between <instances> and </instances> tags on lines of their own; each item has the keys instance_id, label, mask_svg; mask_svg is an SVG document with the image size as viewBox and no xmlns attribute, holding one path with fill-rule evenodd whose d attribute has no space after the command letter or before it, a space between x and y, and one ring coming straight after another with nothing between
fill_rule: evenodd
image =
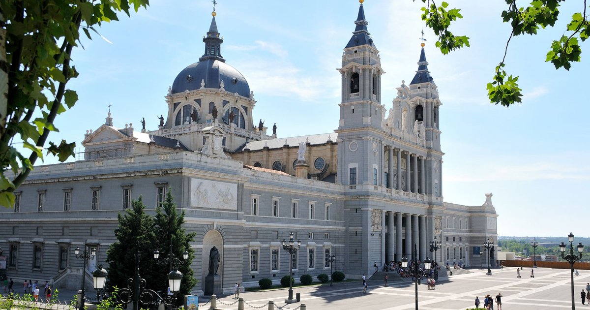
<instances>
[{"instance_id":1,"label":"pale paved stone plaza with light stripes in front of the cathedral","mask_svg":"<svg viewBox=\"0 0 590 310\"><path fill-rule=\"evenodd\" d=\"M504 270L493 269L492 275L486 275L486 269L471 269L473 273L451 276L448 281L437 283L434 291L428 290L427 285L418 286L419 309L424 310L460 310L473 307L474 299L490 294L496 296L502 293L502 309L571 309L570 272L566 269L535 269L535 278L530 278L530 268L520 272L522 278L516 278L516 267L504 267ZM574 275L574 298L576 307L582 306L580 291L585 289L586 282L590 282L590 270L578 270L579 276ZM371 310L407 310L414 309L413 282L390 283L384 286L382 281L369 280L368 294L362 293L359 282L337 283L334 286L318 286L313 288L296 288L294 293L301 294L301 303L307 309L371 309ZM251 306L262 306L268 301L276 302L277 306L284 306L283 299L287 297L287 290L270 292L245 292L240 297ZM225 304L234 302L233 295L219 296ZM201 302L209 298L201 298ZM200 303L199 303L200 304ZM483 302L482 302L483 304ZM300 304L284 306L284 309L295 309ZM253 309L245 306L245 309ZM218 304L221 309L237 309L237 304L225 306ZM202 310L208 309L208 305ZM494 303L494 309L497 305Z\"/></svg>"}]
</instances>

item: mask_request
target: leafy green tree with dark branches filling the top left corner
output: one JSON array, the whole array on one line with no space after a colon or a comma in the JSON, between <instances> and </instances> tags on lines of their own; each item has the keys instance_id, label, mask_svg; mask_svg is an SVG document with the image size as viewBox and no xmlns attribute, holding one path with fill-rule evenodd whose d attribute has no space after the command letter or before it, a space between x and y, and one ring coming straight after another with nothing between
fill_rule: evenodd
<instances>
[{"instance_id":1,"label":"leafy green tree with dark branches filling the top left corner","mask_svg":"<svg viewBox=\"0 0 590 310\"><path fill-rule=\"evenodd\" d=\"M13 192L43 151L65 161L75 143L48 142L57 115L78 100L65 86L78 76L71 63L80 30L91 39L117 12L137 12L149 0L0 0L0 205L14 205ZM48 143L48 147L45 145ZM25 156L14 147L31 151ZM12 174L7 173L11 168Z\"/></svg>"}]
</instances>

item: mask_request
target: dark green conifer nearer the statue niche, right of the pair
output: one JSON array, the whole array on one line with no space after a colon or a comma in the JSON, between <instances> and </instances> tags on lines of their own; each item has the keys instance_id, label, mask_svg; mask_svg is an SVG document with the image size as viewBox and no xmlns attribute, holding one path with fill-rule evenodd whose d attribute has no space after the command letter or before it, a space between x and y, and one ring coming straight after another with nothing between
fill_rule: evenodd
<instances>
[{"instance_id":1,"label":"dark green conifer nearer the statue niche, right of the pair","mask_svg":"<svg viewBox=\"0 0 590 310\"><path fill-rule=\"evenodd\" d=\"M196 284L191 262L195 257L195 250L191 249L191 242L195 239L196 233L186 233L182 228L185 223L185 211L178 212L173 201L172 189L166 193L166 200L162 205L156 207L155 218L155 243L158 244L160 259L168 257L172 244L172 254L182 261L182 253L188 251L188 262L186 265L179 265L178 270L182 272L181 291L179 295L188 295ZM160 291L168 288L169 265L159 265L158 271L154 272L155 285ZM158 291L158 290L156 290Z\"/></svg>"}]
</instances>

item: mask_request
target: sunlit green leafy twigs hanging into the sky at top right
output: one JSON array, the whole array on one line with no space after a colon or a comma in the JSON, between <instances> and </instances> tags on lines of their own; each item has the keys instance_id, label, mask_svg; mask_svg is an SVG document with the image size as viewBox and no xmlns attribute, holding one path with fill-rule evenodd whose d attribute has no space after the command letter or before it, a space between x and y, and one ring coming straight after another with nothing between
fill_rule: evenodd
<instances>
[{"instance_id":1,"label":"sunlit green leafy twigs hanging into the sky at top right","mask_svg":"<svg viewBox=\"0 0 590 310\"><path fill-rule=\"evenodd\" d=\"M517 6L516 0L504 1L507 8L500 15L503 22L510 23L512 31L508 35L504 57L496 66L492 81L487 83L487 91L491 103L509 107L516 102L522 102L522 89L517 83L518 77L504 70L510 40L517 35L536 35L539 29L553 27L558 21L559 4L565 0L533 0L526 7ZM437 6L434 0L422 0L422 2L428 2L427 6L422 8L422 20L438 36L435 45L442 54L448 54L464 46L469 47L468 37L454 35L449 30L452 22L463 18L460 9L448 9L448 3L444 1L440 6ZM545 61L552 63L556 69L569 70L573 62L580 61L582 49L579 46L579 40L584 42L590 35L590 22L586 15L588 5L586 0L581 1L580 4L581 12L575 12L572 15L564 34L550 44Z\"/></svg>"}]
</instances>

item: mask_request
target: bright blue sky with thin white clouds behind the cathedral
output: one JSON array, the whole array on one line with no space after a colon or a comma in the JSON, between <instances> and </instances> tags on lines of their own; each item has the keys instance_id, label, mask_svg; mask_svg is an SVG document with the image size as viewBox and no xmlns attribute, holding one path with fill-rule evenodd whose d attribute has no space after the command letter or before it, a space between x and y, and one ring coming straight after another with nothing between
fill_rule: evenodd
<instances>
[{"instance_id":1,"label":"bright blue sky with thin white clouds behind the cathedral","mask_svg":"<svg viewBox=\"0 0 590 310\"><path fill-rule=\"evenodd\" d=\"M167 112L164 96L183 68L204 53L211 23L207 0L150 1L147 10L122 15L99 29L107 38L83 39L74 50L80 76L68 86L80 100L58 117L53 141L81 141L102 123L112 104L113 122L140 128ZM461 8L455 34L471 47L443 56L424 29L428 68L439 87L441 144L445 152L442 194L450 203L481 205L493 192L502 236L589 236L590 165L586 126L589 61L556 71L545 63L552 40L565 30L581 2L562 6L560 21L540 35L513 38L507 71L520 76L523 103L506 108L487 101L486 83L510 34L501 23L503 1L448 1ZM573 7L573 5L576 7ZM423 28L421 1L366 0L369 32L381 51L382 100L389 108L395 87L417 69ZM277 123L278 138L332 132L337 128L342 48L355 28L358 1L219 0L217 25L222 56L248 80L257 105L254 119ZM582 43L582 61L590 53ZM77 159L83 158L78 154ZM72 159L74 160L74 159ZM57 159L46 158L45 164Z\"/></svg>"}]
</instances>

